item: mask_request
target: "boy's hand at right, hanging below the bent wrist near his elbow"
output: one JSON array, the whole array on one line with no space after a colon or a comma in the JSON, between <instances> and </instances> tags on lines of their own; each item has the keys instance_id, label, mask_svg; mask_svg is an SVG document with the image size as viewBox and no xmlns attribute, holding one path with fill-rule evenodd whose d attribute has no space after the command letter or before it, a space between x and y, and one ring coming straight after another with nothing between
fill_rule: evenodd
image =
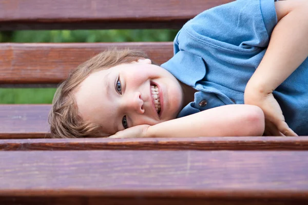
<instances>
[{"instance_id":1,"label":"boy's hand at right, hanging below the bent wrist near his elbow","mask_svg":"<svg viewBox=\"0 0 308 205\"><path fill-rule=\"evenodd\" d=\"M273 93L264 96L245 95L245 104L256 105L260 107L265 115L266 136L298 136L291 130L284 120L282 110L274 98Z\"/></svg>"}]
</instances>

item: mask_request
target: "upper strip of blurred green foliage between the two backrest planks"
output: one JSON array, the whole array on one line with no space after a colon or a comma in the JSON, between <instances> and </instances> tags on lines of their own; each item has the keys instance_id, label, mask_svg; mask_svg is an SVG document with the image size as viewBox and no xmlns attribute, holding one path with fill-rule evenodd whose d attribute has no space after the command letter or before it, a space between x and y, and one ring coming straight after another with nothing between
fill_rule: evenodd
<instances>
[{"instance_id":1,"label":"upper strip of blurred green foliage between the two backrest planks","mask_svg":"<svg viewBox=\"0 0 308 205\"><path fill-rule=\"evenodd\" d=\"M172 41L178 30L52 30L0 32L0 42L72 43L72 42L164 42Z\"/></svg>"}]
</instances>

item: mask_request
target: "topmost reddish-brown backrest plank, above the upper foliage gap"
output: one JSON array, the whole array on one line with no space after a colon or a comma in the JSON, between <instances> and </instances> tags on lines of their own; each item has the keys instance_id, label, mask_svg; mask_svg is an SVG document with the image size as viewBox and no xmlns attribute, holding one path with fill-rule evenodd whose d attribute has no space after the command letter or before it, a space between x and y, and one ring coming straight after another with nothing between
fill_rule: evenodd
<instances>
[{"instance_id":1,"label":"topmost reddish-brown backrest plank, above the upper foliage gap","mask_svg":"<svg viewBox=\"0 0 308 205\"><path fill-rule=\"evenodd\" d=\"M0 30L177 28L231 0L0 0Z\"/></svg>"}]
</instances>

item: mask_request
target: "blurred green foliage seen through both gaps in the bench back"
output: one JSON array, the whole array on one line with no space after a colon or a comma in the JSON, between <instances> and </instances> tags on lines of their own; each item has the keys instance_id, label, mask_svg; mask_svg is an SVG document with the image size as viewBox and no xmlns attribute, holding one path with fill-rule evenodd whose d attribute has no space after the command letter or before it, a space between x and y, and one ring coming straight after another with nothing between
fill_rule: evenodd
<instances>
[{"instance_id":1,"label":"blurred green foliage seen through both gaps in the bench back","mask_svg":"<svg viewBox=\"0 0 308 205\"><path fill-rule=\"evenodd\" d=\"M52 30L3 31L0 43L167 42L178 30ZM0 88L0 104L50 104L53 88Z\"/></svg>"}]
</instances>

